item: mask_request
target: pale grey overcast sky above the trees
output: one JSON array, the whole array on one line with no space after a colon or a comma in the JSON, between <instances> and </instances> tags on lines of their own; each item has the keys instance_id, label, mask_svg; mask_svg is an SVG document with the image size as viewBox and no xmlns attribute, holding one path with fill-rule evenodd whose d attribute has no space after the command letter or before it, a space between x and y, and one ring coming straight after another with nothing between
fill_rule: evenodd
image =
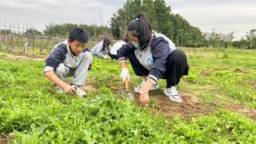
<instances>
[{"instance_id":1,"label":"pale grey overcast sky above the trees","mask_svg":"<svg viewBox=\"0 0 256 144\"><path fill-rule=\"evenodd\" d=\"M107 25L125 0L0 0L0 29L19 23L45 29L50 22ZM227 34L236 39L256 28L256 0L166 0L172 13L180 14L202 31ZM16 24L15 24L16 25Z\"/></svg>"}]
</instances>

